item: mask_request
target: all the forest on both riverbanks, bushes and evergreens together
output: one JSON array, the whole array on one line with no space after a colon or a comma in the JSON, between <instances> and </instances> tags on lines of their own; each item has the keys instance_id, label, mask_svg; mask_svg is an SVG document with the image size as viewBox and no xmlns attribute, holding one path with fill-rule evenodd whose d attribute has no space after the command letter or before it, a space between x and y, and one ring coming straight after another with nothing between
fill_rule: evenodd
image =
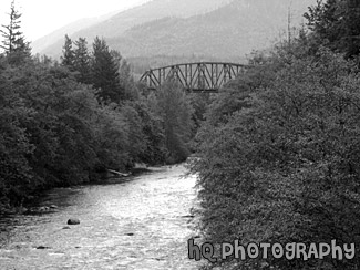
<instances>
[{"instance_id":1,"label":"all the forest on both riverbanks, bushes and evergreens together","mask_svg":"<svg viewBox=\"0 0 360 270\"><path fill-rule=\"evenodd\" d=\"M214 96L147 92L121 53L65 37L32 55L16 7L0 56L0 208L195 152L203 241L357 243L349 260L217 258L206 269L360 268L360 2L318 1Z\"/></svg>"}]
</instances>

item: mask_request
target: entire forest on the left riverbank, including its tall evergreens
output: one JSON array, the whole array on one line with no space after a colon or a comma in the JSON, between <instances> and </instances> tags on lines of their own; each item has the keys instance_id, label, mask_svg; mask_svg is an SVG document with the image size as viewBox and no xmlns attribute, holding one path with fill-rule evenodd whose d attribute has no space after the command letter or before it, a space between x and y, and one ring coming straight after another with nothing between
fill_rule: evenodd
<instances>
[{"instance_id":1,"label":"entire forest on the left riverbank, including its tall evergreens","mask_svg":"<svg viewBox=\"0 0 360 270\"><path fill-rule=\"evenodd\" d=\"M103 39L64 40L32 55L12 4L0 55L0 211L42 190L97 180L106 169L186 159L200 101L176 83L147 92ZM198 107L198 108L196 108ZM195 110L196 108L196 110Z\"/></svg>"}]
</instances>

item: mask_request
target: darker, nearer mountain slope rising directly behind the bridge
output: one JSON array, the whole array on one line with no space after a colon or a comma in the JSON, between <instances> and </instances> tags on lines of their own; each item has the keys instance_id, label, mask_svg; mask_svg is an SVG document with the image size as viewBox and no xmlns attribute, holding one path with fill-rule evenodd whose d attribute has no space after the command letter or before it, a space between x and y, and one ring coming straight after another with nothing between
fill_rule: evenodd
<instances>
[{"instance_id":1,"label":"darker, nearer mountain slope rising directly behind the bridge","mask_svg":"<svg viewBox=\"0 0 360 270\"><path fill-rule=\"evenodd\" d=\"M235 0L214 11L189 18L167 17L111 37L111 48L127 56L212 55L224 60L244 56L286 38L300 27L315 0ZM290 18L289 18L290 15Z\"/></svg>"}]
</instances>

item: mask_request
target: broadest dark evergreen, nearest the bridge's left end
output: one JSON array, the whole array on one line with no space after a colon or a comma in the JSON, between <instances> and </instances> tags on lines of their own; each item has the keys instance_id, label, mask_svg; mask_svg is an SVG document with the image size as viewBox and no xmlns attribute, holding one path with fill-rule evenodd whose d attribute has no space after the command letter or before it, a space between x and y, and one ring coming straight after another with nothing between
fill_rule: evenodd
<instances>
[{"instance_id":1,"label":"broadest dark evergreen, nearest the bridge's left end","mask_svg":"<svg viewBox=\"0 0 360 270\"><path fill-rule=\"evenodd\" d=\"M119 103L124 98L124 90L119 81L119 56L109 50L105 40L97 37L93 43L93 84L97 89L97 97L106 102Z\"/></svg>"}]
</instances>

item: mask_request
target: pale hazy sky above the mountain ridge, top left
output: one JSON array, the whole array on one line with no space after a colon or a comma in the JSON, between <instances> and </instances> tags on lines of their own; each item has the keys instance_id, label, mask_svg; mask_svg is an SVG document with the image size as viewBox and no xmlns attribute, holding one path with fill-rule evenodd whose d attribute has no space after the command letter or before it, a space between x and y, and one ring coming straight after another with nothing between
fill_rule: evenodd
<instances>
[{"instance_id":1,"label":"pale hazy sky above the mountain ridge, top left","mask_svg":"<svg viewBox=\"0 0 360 270\"><path fill-rule=\"evenodd\" d=\"M22 31L34 41L70 22L128 9L148 0L16 0ZM0 0L0 24L9 23L11 0Z\"/></svg>"}]
</instances>

